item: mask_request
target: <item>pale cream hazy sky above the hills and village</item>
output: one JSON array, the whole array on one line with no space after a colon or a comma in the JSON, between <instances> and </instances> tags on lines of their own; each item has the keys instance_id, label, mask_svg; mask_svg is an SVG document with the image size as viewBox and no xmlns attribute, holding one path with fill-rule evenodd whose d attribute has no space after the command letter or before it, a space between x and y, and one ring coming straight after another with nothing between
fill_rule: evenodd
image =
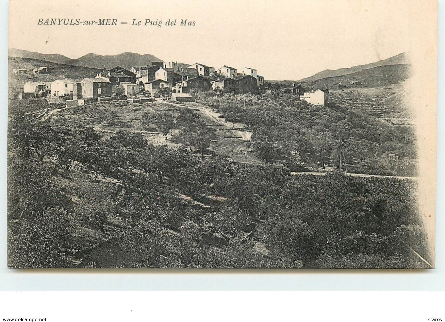
<instances>
[{"instance_id":1,"label":"pale cream hazy sky above the hills and village","mask_svg":"<svg viewBox=\"0 0 445 322\"><path fill-rule=\"evenodd\" d=\"M152 54L214 68L256 68L298 80L409 51L417 0L152 1L10 0L9 47L78 58ZM38 25L47 18L117 19L117 26ZM141 26L132 26L133 19ZM146 19L162 27L143 26ZM176 19L176 26L166 26ZM180 20L195 26L180 26ZM128 22L128 24L120 24ZM63 23L62 23L63 24Z\"/></svg>"}]
</instances>

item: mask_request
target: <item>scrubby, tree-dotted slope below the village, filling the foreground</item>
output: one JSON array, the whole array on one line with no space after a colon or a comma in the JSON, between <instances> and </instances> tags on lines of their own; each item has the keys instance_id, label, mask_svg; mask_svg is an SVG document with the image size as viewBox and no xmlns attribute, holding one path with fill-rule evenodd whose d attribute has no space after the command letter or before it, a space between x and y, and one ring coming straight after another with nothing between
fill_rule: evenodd
<instances>
[{"instance_id":1,"label":"scrubby, tree-dotted slope below the village, filling the foreground","mask_svg":"<svg viewBox=\"0 0 445 322\"><path fill-rule=\"evenodd\" d=\"M10 111L8 265L427 267L412 251L429 259L416 180L336 163L341 147L349 172L413 176L410 127L274 89L198 99L252 132L238 140L259 162L215 152L221 135L198 103ZM291 175L317 161L332 171Z\"/></svg>"}]
</instances>

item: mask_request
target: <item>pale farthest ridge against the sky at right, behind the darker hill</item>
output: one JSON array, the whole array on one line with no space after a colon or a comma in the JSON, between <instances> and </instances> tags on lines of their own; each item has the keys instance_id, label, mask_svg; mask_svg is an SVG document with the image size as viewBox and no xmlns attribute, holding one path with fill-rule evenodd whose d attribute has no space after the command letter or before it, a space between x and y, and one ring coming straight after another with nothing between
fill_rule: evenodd
<instances>
[{"instance_id":1,"label":"pale farthest ridge against the sky at right, behind the darker hill","mask_svg":"<svg viewBox=\"0 0 445 322\"><path fill-rule=\"evenodd\" d=\"M354 66L354 67L350 67L350 68L339 68L336 70L326 69L322 72L316 73L313 76L303 78L302 80L299 80L298 83L312 82L314 80L320 80L323 78L352 74L355 72L360 72L365 69L370 69L370 68L379 67L379 66L399 65L399 64L409 64L409 63L410 62L409 62L409 59L408 59L406 53L402 52L401 54L398 54L396 56L392 56L392 57L389 57L384 60L379 60L379 61L377 61L375 63L371 63L371 64L359 65L359 66ZM295 83L297 83L297 82L295 82Z\"/></svg>"}]
</instances>

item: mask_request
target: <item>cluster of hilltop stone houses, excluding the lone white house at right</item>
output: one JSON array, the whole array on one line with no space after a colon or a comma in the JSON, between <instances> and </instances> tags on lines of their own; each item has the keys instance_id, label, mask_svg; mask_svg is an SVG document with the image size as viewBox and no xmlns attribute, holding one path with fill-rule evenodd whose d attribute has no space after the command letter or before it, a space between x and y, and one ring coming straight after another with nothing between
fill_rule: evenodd
<instances>
[{"instance_id":1,"label":"cluster of hilltop stone houses, excluding the lone white house at right","mask_svg":"<svg viewBox=\"0 0 445 322\"><path fill-rule=\"evenodd\" d=\"M21 69L14 70L21 73ZM40 69L45 73L47 69ZM97 98L112 95L113 85L121 85L125 95L135 98L147 92L152 96L188 95L191 91L233 91L235 93L255 92L264 82L256 69L223 66L218 70L204 64L178 64L177 62L152 62L145 67L134 66L127 70L120 66L100 72L96 76L85 76L75 80L49 82L28 82L24 84L19 98L47 97L60 98L73 94L73 99Z\"/></svg>"}]
</instances>

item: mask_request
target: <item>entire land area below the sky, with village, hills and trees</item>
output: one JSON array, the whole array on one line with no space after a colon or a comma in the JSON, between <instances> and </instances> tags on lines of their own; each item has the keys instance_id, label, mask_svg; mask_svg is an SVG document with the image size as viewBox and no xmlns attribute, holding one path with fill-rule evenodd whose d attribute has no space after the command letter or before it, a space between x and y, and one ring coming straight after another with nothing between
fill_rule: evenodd
<instances>
[{"instance_id":1,"label":"entire land area below the sky, with village, hills and trees","mask_svg":"<svg viewBox=\"0 0 445 322\"><path fill-rule=\"evenodd\" d=\"M231 64L59 59L9 57L9 267L431 261L416 135L401 119L406 64L303 82Z\"/></svg>"}]
</instances>

